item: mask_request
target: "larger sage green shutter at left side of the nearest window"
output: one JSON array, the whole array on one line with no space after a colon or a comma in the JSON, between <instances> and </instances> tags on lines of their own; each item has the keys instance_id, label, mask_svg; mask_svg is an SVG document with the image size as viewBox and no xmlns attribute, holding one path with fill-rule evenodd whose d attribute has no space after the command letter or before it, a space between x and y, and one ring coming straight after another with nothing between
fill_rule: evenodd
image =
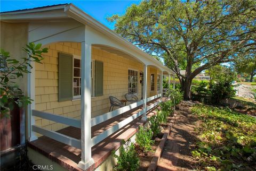
<instances>
[{"instance_id":1,"label":"larger sage green shutter at left side of the nearest window","mask_svg":"<svg viewBox=\"0 0 256 171\"><path fill-rule=\"evenodd\" d=\"M73 56L59 53L59 101L73 99Z\"/></svg>"}]
</instances>

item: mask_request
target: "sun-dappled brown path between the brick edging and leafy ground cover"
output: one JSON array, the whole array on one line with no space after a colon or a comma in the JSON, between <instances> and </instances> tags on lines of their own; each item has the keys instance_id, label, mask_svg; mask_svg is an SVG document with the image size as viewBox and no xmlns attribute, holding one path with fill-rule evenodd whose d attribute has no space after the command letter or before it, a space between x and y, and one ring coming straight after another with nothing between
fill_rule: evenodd
<instances>
[{"instance_id":1,"label":"sun-dappled brown path between the brick edging and leafy ground cover","mask_svg":"<svg viewBox=\"0 0 256 171\"><path fill-rule=\"evenodd\" d=\"M176 121L172 127L165 144L164 151L159 159L157 170L190 170L191 151L196 142L194 131L194 121L196 120L190 113L192 102L183 101L179 105Z\"/></svg>"}]
</instances>

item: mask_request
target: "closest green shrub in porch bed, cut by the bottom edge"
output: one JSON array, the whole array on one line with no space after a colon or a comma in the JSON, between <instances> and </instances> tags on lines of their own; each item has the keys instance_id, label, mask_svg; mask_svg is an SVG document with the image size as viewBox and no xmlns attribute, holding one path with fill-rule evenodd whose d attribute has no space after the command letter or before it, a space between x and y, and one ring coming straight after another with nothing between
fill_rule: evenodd
<instances>
[{"instance_id":1,"label":"closest green shrub in porch bed, cut by the bottom edge","mask_svg":"<svg viewBox=\"0 0 256 171\"><path fill-rule=\"evenodd\" d=\"M122 142L119 151L119 156L115 154L115 151L112 151L112 156L117 159L117 166L115 167L115 170L135 171L139 168L140 159L137 151L135 150L134 143L132 143L130 139L126 142Z\"/></svg>"}]
</instances>

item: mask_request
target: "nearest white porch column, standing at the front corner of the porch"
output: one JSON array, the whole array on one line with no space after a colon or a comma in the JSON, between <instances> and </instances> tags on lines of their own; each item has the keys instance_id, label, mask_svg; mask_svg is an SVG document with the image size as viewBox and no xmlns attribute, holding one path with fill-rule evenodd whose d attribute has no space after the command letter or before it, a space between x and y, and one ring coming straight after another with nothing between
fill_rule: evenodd
<instances>
[{"instance_id":1,"label":"nearest white porch column, standing at the front corner of the porch","mask_svg":"<svg viewBox=\"0 0 256 171\"><path fill-rule=\"evenodd\" d=\"M81 43L81 161L78 167L85 170L94 160L91 150L91 44Z\"/></svg>"}]
</instances>

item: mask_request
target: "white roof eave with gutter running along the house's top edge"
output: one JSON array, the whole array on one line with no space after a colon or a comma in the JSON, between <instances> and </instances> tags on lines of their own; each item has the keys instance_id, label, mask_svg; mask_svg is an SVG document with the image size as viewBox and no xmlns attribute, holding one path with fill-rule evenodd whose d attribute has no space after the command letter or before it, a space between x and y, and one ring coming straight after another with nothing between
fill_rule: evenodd
<instances>
[{"instance_id":1,"label":"white roof eave with gutter running along the house's top edge","mask_svg":"<svg viewBox=\"0 0 256 171\"><path fill-rule=\"evenodd\" d=\"M150 65L155 65L158 69L163 71L163 74L171 74L175 73L169 69L169 67L164 66L161 62L157 61L155 58L151 57L149 54L143 52L137 46L134 46L131 42L127 41L123 37L119 36L113 30L110 30L105 25L100 23L99 21L92 18L92 16L86 14L80 8L76 7L73 4L60 4L60 5L52 5L45 7L37 7L26 10L18 10L18 11L10 11L10 12L2 12L1 21L4 22L31 22L35 20L55 20L55 19L74 19L84 25L89 25L93 29L107 35L111 39L118 42L129 50L133 50L134 53L139 54L147 58L150 61Z\"/></svg>"}]
</instances>

